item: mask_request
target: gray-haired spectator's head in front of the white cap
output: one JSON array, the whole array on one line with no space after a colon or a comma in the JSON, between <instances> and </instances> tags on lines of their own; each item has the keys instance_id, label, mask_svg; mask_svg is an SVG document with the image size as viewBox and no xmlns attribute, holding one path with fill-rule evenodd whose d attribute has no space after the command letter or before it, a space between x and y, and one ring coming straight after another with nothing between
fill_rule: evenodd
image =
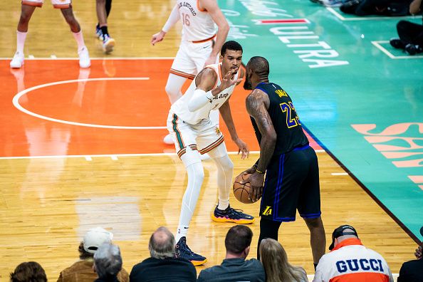
<instances>
[{"instance_id":1,"label":"gray-haired spectator's head in front of the white cap","mask_svg":"<svg viewBox=\"0 0 423 282\"><path fill-rule=\"evenodd\" d=\"M108 279L117 276L122 269L122 256L120 256L119 247L108 243L99 246L94 254L93 267L98 278Z\"/></svg>"}]
</instances>

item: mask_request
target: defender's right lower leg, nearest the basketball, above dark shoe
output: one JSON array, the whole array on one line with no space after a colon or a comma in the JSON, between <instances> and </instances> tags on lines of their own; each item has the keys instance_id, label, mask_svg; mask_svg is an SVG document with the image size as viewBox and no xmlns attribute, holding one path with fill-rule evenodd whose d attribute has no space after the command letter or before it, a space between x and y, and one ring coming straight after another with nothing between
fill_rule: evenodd
<instances>
[{"instance_id":1,"label":"defender's right lower leg, nearest the basketball, above dark shoe","mask_svg":"<svg viewBox=\"0 0 423 282\"><path fill-rule=\"evenodd\" d=\"M229 192L231 191L234 164L228 155L217 157L213 160L217 167L217 188L219 189L219 204L217 208L224 210L229 207Z\"/></svg>"}]
</instances>

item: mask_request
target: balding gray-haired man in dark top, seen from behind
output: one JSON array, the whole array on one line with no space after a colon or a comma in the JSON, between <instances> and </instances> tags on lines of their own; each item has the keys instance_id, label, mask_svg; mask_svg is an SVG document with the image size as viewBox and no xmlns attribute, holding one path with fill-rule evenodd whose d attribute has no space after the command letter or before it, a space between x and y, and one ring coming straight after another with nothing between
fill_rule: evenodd
<instances>
[{"instance_id":1,"label":"balding gray-haired man in dark top, seen from behind","mask_svg":"<svg viewBox=\"0 0 423 282\"><path fill-rule=\"evenodd\" d=\"M196 281L197 271L185 258L174 258L174 236L166 227L159 227L150 237L150 258L136 264L130 273L131 282Z\"/></svg>"}]
</instances>

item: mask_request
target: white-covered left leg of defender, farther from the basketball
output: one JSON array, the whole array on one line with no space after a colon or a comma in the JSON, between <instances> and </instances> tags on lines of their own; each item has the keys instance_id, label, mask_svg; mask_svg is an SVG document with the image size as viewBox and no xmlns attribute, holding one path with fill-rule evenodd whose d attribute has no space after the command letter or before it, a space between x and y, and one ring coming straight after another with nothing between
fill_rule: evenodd
<instances>
[{"instance_id":1,"label":"white-covered left leg of defender, farther from the basketball","mask_svg":"<svg viewBox=\"0 0 423 282\"><path fill-rule=\"evenodd\" d=\"M179 224L175 241L179 241L181 237L187 236L189 221L191 221L192 214L194 214L194 209L197 205L199 192L202 188L204 179L204 169L201 160L199 160L199 152L197 150L189 150L188 148L187 152L181 157L184 164L191 164L187 166L188 184L184 193L184 198L182 198L181 214L179 215ZM193 158L196 159L194 163L192 163Z\"/></svg>"}]
</instances>

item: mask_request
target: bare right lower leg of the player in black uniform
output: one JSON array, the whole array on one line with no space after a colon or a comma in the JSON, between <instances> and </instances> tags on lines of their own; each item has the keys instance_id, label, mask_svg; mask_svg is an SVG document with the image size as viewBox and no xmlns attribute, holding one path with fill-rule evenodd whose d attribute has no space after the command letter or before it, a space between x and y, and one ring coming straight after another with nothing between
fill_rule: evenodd
<instances>
[{"instance_id":1,"label":"bare right lower leg of the player in black uniform","mask_svg":"<svg viewBox=\"0 0 423 282\"><path fill-rule=\"evenodd\" d=\"M320 216L316 219L304 219L304 221L310 230L310 246L313 253L313 264L316 267L320 258L325 254L325 228L323 227L323 221Z\"/></svg>"}]
</instances>

